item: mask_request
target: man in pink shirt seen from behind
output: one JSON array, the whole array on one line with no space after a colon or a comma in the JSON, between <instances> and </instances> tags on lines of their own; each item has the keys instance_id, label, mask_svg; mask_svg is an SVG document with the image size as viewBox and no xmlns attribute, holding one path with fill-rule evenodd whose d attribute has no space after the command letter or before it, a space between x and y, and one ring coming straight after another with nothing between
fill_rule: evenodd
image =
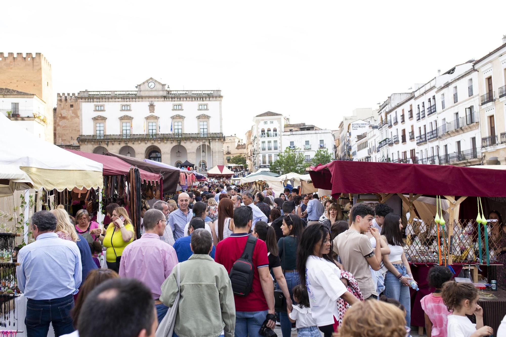
<instances>
[{"instance_id":1,"label":"man in pink shirt seen from behind","mask_svg":"<svg viewBox=\"0 0 506 337\"><path fill-rule=\"evenodd\" d=\"M151 290L159 323L168 310L160 302L161 284L171 274L178 258L176 250L160 240L166 226L165 216L160 210L148 209L143 225L145 232L142 237L123 250L119 276L138 279Z\"/></svg>"}]
</instances>

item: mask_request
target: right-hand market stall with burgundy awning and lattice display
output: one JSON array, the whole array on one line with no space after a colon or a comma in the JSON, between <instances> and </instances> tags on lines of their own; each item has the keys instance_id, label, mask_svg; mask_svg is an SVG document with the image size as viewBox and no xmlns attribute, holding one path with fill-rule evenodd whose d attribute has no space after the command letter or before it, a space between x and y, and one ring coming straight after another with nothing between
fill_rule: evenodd
<instances>
[{"instance_id":1,"label":"right-hand market stall with burgundy awning and lattice display","mask_svg":"<svg viewBox=\"0 0 506 337\"><path fill-rule=\"evenodd\" d=\"M462 268L478 270L480 266L488 266L488 281L495 277L495 268L502 268L494 253L500 247L500 224L487 222L485 214L506 208L494 208L506 196L503 170L335 160L311 167L310 176L316 188L330 190L334 197L342 193L359 196L368 193L377 198L376 202L398 198L409 213L404 225L411 232L406 235L404 248L420 288L412 296L412 325L424 325L419 301L433 290L425 281L431 266L451 266L455 274ZM443 224L436 221L436 214L427 217L426 212L426 218L422 218L424 212L421 209L419 212L415 200L423 196L446 199L448 206L443 208L441 202L439 211L447 219Z\"/></svg>"}]
</instances>

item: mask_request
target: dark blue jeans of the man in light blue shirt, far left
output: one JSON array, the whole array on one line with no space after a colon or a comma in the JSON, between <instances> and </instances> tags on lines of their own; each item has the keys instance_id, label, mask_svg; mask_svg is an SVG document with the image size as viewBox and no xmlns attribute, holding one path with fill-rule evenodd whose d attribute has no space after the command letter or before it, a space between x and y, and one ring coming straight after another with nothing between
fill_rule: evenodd
<instances>
[{"instance_id":1,"label":"dark blue jeans of the man in light blue shirt, far left","mask_svg":"<svg viewBox=\"0 0 506 337\"><path fill-rule=\"evenodd\" d=\"M30 300L26 303L26 335L46 337L49 324L53 323L56 336L73 332L70 309L74 307L72 294L53 300Z\"/></svg>"}]
</instances>

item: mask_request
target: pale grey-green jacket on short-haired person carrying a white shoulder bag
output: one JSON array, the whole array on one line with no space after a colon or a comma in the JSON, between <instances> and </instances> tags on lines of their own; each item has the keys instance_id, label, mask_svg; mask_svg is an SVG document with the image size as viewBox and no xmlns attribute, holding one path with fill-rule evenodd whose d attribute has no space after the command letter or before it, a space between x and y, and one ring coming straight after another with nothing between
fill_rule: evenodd
<instances>
[{"instance_id":1,"label":"pale grey-green jacket on short-haired person carrying a white shoulder bag","mask_svg":"<svg viewBox=\"0 0 506 337\"><path fill-rule=\"evenodd\" d=\"M227 270L209 255L193 254L180 265L178 314L174 332L179 337L216 337L224 330L234 336L235 303ZM161 285L160 301L172 307L178 292L177 268Z\"/></svg>"}]
</instances>

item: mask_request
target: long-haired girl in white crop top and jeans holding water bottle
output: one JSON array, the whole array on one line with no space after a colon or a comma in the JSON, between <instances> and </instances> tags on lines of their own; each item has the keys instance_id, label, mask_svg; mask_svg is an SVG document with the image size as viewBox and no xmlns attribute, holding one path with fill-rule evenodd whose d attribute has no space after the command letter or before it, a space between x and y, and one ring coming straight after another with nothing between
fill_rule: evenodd
<instances>
[{"instance_id":1,"label":"long-haired girl in white crop top and jeans holding water bottle","mask_svg":"<svg viewBox=\"0 0 506 337\"><path fill-rule=\"evenodd\" d=\"M401 217L394 213L387 214L381 234L390 248L390 254L383 256L383 264L388 269L385 274L385 295L404 306L406 325L409 326L411 324L409 283L412 282L413 275L404 254Z\"/></svg>"}]
</instances>

